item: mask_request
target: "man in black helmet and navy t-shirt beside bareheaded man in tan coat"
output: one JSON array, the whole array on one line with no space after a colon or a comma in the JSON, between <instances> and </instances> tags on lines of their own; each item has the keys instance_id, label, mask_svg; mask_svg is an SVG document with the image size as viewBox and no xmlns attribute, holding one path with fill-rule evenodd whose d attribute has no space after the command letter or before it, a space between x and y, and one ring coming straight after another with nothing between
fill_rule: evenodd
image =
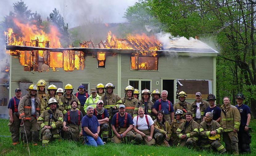
<instances>
[{"instance_id":1,"label":"man in black helmet and navy t-shirt beside bareheaded man in tan coat","mask_svg":"<svg viewBox=\"0 0 256 156\"><path fill-rule=\"evenodd\" d=\"M205 114L207 112L212 112L213 113L213 120L217 121L220 123L221 121L221 109L220 107L215 105L215 101L217 99L215 98L215 96L213 94L209 94L207 96L207 102L209 102L209 107L206 108L206 110L204 110L204 118L203 121L205 120Z\"/></svg>"}]
</instances>

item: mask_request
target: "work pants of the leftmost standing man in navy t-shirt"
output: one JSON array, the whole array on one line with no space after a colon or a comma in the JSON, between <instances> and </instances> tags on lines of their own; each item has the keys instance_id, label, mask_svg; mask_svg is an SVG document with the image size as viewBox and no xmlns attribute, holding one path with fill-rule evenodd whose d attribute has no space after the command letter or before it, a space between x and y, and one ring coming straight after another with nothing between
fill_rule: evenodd
<instances>
[{"instance_id":1,"label":"work pants of the leftmost standing man in navy t-shirt","mask_svg":"<svg viewBox=\"0 0 256 156\"><path fill-rule=\"evenodd\" d=\"M8 124L11 132L12 142L19 142L20 122L21 120L16 116L16 113L12 114L13 122Z\"/></svg>"}]
</instances>

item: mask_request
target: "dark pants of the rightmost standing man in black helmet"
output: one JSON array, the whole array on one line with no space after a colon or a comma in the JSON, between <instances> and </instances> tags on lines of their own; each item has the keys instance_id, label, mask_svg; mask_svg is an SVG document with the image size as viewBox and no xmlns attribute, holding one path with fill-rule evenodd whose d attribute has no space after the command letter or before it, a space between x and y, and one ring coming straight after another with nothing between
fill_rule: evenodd
<instances>
[{"instance_id":1,"label":"dark pants of the rightmost standing man in black helmet","mask_svg":"<svg viewBox=\"0 0 256 156\"><path fill-rule=\"evenodd\" d=\"M245 125L240 125L239 131L237 132L238 136L238 149L241 153L251 153L250 143L251 135L248 131L245 131Z\"/></svg>"}]
</instances>

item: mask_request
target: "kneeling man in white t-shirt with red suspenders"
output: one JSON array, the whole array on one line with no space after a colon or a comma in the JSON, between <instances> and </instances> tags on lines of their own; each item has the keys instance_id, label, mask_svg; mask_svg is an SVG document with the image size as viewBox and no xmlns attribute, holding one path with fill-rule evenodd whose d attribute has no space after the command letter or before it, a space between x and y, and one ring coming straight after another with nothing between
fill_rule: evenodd
<instances>
[{"instance_id":1,"label":"kneeling man in white t-shirt with red suspenders","mask_svg":"<svg viewBox=\"0 0 256 156\"><path fill-rule=\"evenodd\" d=\"M146 145L154 145L154 121L149 115L144 115L144 108L138 108L138 116L133 118L133 130L135 132L135 141L141 143L142 140Z\"/></svg>"}]
</instances>

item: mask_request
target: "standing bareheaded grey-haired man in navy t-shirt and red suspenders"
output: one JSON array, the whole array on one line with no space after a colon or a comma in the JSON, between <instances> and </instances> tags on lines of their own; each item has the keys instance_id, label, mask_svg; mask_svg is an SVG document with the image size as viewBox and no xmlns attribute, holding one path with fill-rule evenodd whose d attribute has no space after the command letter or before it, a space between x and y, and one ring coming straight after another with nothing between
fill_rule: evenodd
<instances>
[{"instance_id":1,"label":"standing bareheaded grey-haired man in navy t-shirt and red suspenders","mask_svg":"<svg viewBox=\"0 0 256 156\"><path fill-rule=\"evenodd\" d=\"M174 119L174 109L173 109L172 103L169 100L167 100L167 96L168 96L167 90L161 91L162 99L157 100L155 102L155 104L153 105L152 111L156 115L157 112L159 110L161 110L163 112L163 114L164 114L164 116L163 116L164 119L171 124L171 122Z\"/></svg>"}]
</instances>

